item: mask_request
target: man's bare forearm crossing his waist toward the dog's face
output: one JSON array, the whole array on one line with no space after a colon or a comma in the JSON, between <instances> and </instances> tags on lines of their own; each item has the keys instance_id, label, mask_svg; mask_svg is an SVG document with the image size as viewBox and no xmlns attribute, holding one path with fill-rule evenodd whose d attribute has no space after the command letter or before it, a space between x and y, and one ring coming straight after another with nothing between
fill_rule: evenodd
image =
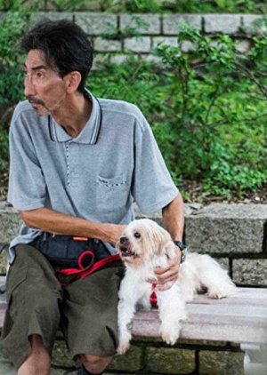
<instances>
[{"instance_id":1,"label":"man's bare forearm crossing his waist toward the dog's face","mask_svg":"<svg viewBox=\"0 0 267 375\"><path fill-rule=\"evenodd\" d=\"M117 243L125 227L79 219L47 208L20 211L20 215L28 227L35 227L53 235L97 238L112 244Z\"/></svg>"}]
</instances>

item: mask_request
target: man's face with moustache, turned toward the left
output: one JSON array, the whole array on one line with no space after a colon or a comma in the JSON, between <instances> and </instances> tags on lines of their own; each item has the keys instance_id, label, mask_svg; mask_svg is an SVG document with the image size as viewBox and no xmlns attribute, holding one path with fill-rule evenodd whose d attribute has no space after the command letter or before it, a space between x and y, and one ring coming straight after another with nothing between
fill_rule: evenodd
<instances>
[{"instance_id":1,"label":"man's face with moustache, turned toward the left","mask_svg":"<svg viewBox=\"0 0 267 375\"><path fill-rule=\"evenodd\" d=\"M48 67L43 52L31 50L24 63L24 94L39 116L57 112L66 98L64 77Z\"/></svg>"}]
</instances>

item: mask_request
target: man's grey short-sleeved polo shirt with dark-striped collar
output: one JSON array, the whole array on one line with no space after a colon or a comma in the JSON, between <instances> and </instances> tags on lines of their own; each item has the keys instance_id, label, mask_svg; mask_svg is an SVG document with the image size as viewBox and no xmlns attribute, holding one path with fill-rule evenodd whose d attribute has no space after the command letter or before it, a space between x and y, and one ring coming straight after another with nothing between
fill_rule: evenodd
<instances>
[{"instance_id":1,"label":"man's grey short-sleeved polo shirt with dark-striped collar","mask_svg":"<svg viewBox=\"0 0 267 375\"><path fill-rule=\"evenodd\" d=\"M93 111L77 138L52 116L38 116L28 100L15 108L8 201L20 211L47 207L116 224L134 219L134 201L144 214L166 206L179 192L140 109L87 95ZM10 261L13 246L39 234L22 225Z\"/></svg>"}]
</instances>

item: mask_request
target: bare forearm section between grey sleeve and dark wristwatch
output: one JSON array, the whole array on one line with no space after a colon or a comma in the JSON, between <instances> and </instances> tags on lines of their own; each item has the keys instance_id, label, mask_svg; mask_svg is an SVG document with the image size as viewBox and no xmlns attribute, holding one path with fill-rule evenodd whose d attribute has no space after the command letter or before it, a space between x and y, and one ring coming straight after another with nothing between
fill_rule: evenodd
<instances>
[{"instance_id":1,"label":"bare forearm section between grey sleeve and dark wristwatch","mask_svg":"<svg viewBox=\"0 0 267 375\"><path fill-rule=\"evenodd\" d=\"M163 223L166 230L176 241L182 241L184 227L184 205L182 195L177 195L174 200L162 210Z\"/></svg>"}]
</instances>

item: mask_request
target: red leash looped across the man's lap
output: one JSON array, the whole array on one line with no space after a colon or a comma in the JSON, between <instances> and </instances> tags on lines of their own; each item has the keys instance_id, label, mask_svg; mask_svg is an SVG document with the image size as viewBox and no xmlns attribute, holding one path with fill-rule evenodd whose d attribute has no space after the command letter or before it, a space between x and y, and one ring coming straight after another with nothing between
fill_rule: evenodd
<instances>
[{"instance_id":1,"label":"red leash looped across the man's lap","mask_svg":"<svg viewBox=\"0 0 267 375\"><path fill-rule=\"evenodd\" d=\"M85 263L85 259L87 260L86 261L87 266L84 267L83 263ZM89 259L89 263L88 263L88 259ZM104 267L107 264L109 264L109 263L111 263L115 260L119 260L119 259L120 259L119 254L115 254L115 255L110 255L110 257L98 260L97 262L94 263L94 253L93 253L93 251L87 250L87 251L82 252L79 255L78 260L77 260L78 268L63 268L63 269L57 271L56 275L57 275L58 279L60 280L61 285L67 286L69 283L66 283L66 282L62 281L62 280L64 280L64 278L66 279L66 276L77 275L77 280L83 279L83 278L93 274L93 272L97 271L101 267Z\"/></svg>"}]
</instances>

